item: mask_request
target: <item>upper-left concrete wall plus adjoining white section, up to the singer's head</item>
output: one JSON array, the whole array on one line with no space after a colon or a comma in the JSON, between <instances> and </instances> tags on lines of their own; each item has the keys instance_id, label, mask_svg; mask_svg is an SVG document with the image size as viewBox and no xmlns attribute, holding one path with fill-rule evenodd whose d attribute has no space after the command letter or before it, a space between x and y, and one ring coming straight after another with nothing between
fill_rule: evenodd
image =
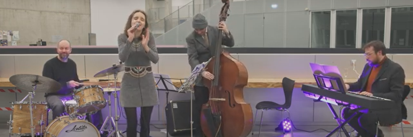
<instances>
[{"instance_id":1,"label":"upper-left concrete wall plus adjoining white section, up to the singer's head","mask_svg":"<svg viewBox=\"0 0 413 137\"><path fill-rule=\"evenodd\" d=\"M19 31L18 46L56 45L53 35L89 45L88 33L96 45L116 45L135 9L145 10L145 0L0 0L0 30Z\"/></svg>"}]
</instances>

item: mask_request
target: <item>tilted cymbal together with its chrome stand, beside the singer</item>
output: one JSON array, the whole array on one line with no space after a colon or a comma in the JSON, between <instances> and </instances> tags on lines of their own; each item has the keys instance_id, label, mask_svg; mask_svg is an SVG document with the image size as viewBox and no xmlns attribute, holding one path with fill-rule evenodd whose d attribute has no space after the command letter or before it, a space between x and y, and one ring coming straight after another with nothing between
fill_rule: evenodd
<instances>
[{"instance_id":1,"label":"tilted cymbal together with its chrome stand, beside the singer","mask_svg":"<svg viewBox=\"0 0 413 137\"><path fill-rule=\"evenodd\" d=\"M122 134L122 131L118 129L118 121L120 116L118 116L118 93L116 92L116 88L117 88L117 82L118 82L118 73L121 71L124 71L125 67L123 67L123 64L120 65L112 65L112 67L106 69L106 70L102 70L101 72L98 72L97 74L95 74L93 77L108 77L109 79L109 75L114 76L115 79L115 89L114 89L114 98L115 98L115 118L112 117L112 111L111 111L111 104L112 102L110 102L110 98L111 98L111 94L112 91L108 91L108 95L109 95L109 116L105 119L105 121L103 122L102 128L100 128L100 132L103 133L104 130L104 126L107 124L107 122L110 120L111 124L111 128L114 128L115 130L113 131L113 129L109 130L109 135L108 137L125 137L125 135ZM108 87L110 86L110 82L108 82Z\"/></svg>"}]
</instances>

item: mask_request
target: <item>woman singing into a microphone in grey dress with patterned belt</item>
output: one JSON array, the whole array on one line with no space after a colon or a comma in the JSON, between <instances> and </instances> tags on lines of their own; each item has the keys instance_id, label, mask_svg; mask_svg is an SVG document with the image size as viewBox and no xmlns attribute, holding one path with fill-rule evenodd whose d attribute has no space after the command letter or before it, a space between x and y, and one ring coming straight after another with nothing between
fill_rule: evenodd
<instances>
[{"instance_id":1,"label":"woman singing into a microphone in grey dress with patterned belt","mask_svg":"<svg viewBox=\"0 0 413 137\"><path fill-rule=\"evenodd\" d=\"M118 37L119 59L125 65L119 100L126 113L127 137L137 135L136 107L141 107L139 137L149 137L152 109L159 103L151 67L151 62L158 63L159 57L146 17L142 10L133 11Z\"/></svg>"}]
</instances>

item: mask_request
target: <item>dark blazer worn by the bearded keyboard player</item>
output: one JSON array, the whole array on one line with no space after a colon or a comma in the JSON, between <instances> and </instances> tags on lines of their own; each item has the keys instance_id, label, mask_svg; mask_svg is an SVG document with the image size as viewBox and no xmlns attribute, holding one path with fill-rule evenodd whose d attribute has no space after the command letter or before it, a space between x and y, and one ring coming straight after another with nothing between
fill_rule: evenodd
<instances>
[{"instance_id":1,"label":"dark blazer worn by the bearded keyboard player","mask_svg":"<svg viewBox=\"0 0 413 137\"><path fill-rule=\"evenodd\" d=\"M349 91L366 91L366 84L371 70L372 67L366 64L358 81L349 84ZM397 124L402 121L401 104L403 103L405 78L403 68L389 58L385 58L382 68L371 86L371 91L373 96L393 100L396 104L392 109L373 111L373 113L377 113L380 125Z\"/></svg>"}]
</instances>

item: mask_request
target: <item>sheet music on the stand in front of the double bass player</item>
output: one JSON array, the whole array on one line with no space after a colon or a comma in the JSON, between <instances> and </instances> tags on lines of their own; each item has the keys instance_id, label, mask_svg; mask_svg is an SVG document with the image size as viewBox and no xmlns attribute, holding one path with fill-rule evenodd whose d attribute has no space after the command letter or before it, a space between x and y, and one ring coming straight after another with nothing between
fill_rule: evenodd
<instances>
[{"instance_id":1,"label":"sheet music on the stand in front of the double bass player","mask_svg":"<svg viewBox=\"0 0 413 137\"><path fill-rule=\"evenodd\" d=\"M195 85L195 82L197 81L199 74L208 65L209 61L211 61L211 58L207 62L195 66L194 70L192 70L191 72L191 75L185 80L185 83L183 83L182 86L180 86L180 88L178 89L178 92L193 92L193 87Z\"/></svg>"}]
</instances>

